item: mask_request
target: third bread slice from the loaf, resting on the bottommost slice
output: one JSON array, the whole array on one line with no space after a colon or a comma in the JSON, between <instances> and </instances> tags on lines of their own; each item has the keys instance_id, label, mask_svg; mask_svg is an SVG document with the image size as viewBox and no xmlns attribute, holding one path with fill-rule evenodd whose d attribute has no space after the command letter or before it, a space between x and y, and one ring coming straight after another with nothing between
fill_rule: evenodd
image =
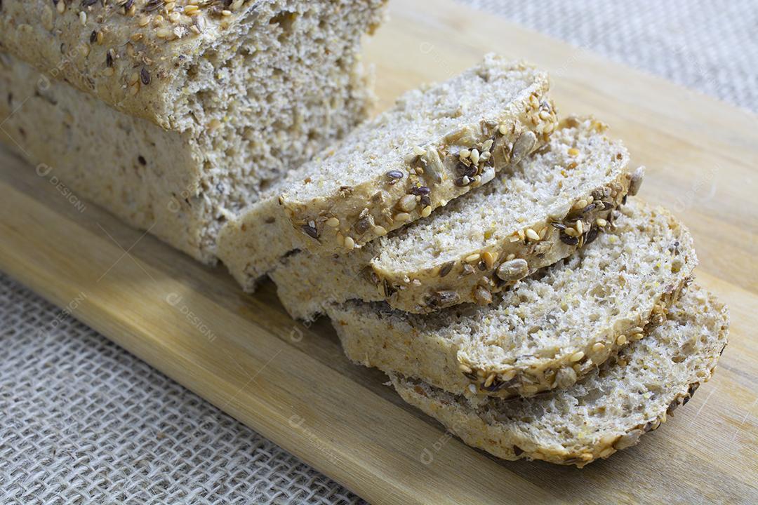
<instances>
[{"instance_id":1,"label":"third bread slice from the loaf, resting on the bottommost slice","mask_svg":"<svg viewBox=\"0 0 758 505\"><path fill-rule=\"evenodd\" d=\"M327 307L347 356L468 397L567 388L665 315L697 263L687 229L630 201L615 226L496 296L410 315L387 304Z\"/></svg>"}]
</instances>

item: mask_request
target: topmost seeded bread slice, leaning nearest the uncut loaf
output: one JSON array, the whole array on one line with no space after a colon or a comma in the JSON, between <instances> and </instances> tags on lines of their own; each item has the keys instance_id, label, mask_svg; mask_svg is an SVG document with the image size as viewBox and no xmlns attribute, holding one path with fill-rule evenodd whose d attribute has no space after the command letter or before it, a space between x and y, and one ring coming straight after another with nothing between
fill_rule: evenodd
<instances>
[{"instance_id":1,"label":"topmost seeded bread slice, leaning nearest the uncut loaf","mask_svg":"<svg viewBox=\"0 0 758 505\"><path fill-rule=\"evenodd\" d=\"M556 126L547 91L547 74L487 55L407 92L228 223L221 259L249 291L293 249L352 250L428 217L543 145Z\"/></svg>"}]
</instances>

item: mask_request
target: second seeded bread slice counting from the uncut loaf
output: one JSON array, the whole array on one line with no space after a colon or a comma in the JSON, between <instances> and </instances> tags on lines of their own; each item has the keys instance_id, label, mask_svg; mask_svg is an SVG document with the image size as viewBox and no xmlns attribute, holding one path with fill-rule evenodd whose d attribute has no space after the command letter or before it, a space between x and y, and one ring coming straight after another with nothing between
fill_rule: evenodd
<instances>
[{"instance_id":1,"label":"second seeded bread slice counting from the uncut loaf","mask_svg":"<svg viewBox=\"0 0 758 505\"><path fill-rule=\"evenodd\" d=\"M350 299L411 313L490 303L592 242L633 181L636 191L641 173L630 176L626 149L605 131L591 118L569 118L534 156L427 220L351 254L288 257L271 273L280 299L302 319Z\"/></svg>"}]
</instances>

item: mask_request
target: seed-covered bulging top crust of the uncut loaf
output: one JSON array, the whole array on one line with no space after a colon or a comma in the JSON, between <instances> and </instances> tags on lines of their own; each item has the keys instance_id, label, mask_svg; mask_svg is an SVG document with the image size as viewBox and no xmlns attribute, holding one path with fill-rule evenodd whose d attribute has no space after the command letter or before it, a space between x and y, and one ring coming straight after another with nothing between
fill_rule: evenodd
<instances>
[{"instance_id":1,"label":"seed-covered bulging top crust of the uncut loaf","mask_svg":"<svg viewBox=\"0 0 758 505\"><path fill-rule=\"evenodd\" d=\"M174 11L182 14L172 22L150 0L3 2L0 48L117 111L176 129L172 86L199 55L264 3L230 2L229 16L219 5L202 8L192 19L182 13L189 2L178 0ZM165 18L160 26L155 25L158 14ZM143 24L146 17L150 22ZM201 24L202 32L197 30ZM135 70L139 80L133 83ZM139 92L130 92L135 85Z\"/></svg>"}]
</instances>

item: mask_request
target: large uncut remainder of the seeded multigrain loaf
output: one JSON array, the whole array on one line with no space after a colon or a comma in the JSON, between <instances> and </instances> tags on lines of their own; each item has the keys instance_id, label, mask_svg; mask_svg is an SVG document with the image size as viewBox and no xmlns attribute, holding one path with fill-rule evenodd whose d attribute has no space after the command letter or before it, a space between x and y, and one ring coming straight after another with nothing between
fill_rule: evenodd
<instances>
[{"instance_id":1,"label":"large uncut remainder of the seeded multigrain loaf","mask_svg":"<svg viewBox=\"0 0 758 505\"><path fill-rule=\"evenodd\" d=\"M6 0L0 141L212 262L227 219L367 116L384 3Z\"/></svg>"}]
</instances>

